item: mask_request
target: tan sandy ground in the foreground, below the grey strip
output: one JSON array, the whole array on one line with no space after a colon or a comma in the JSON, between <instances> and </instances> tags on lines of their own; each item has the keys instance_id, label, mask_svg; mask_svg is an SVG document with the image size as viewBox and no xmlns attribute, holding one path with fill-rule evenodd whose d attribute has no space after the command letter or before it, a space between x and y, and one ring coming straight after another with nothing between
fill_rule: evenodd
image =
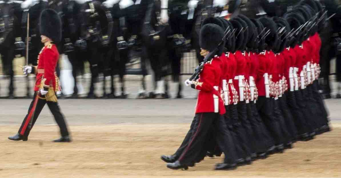
<instances>
[{"instance_id":1,"label":"tan sandy ground in the foreground, below the grey strip","mask_svg":"<svg viewBox=\"0 0 341 178\"><path fill-rule=\"evenodd\" d=\"M53 143L56 126L35 126L29 141L15 142L17 126L0 126L0 177L340 177L341 124L283 154L235 171L213 171L222 158L208 158L188 171L170 170L160 159L172 154L189 124L70 126L72 143Z\"/></svg>"}]
</instances>

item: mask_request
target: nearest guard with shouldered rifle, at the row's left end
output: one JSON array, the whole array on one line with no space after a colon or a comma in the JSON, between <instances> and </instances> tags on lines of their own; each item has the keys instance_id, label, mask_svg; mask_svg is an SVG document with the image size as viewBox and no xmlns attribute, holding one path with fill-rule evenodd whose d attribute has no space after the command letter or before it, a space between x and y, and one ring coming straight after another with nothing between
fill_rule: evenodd
<instances>
[{"instance_id":1,"label":"nearest guard with shouldered rifle, at the row's left end","mask_svg":"<svg viewBox=\"0 0 341 178\"><path fill-rule=\"evenodd\" d=\"M221 43L224 36L223 29L216 24L205 24L200 32L201 54L210 59L206 61L204 67L196 81L186 81L186 85L199 90L197 104L195 107L194 124L192 133L186 148L177 161L168 163L171 169L188 168L201 154L206 136L211 127L216 132L216 141L220 149L224 152L224 163L217 164L216 170L231 170L236 168L235 151L232 147L232 138L227 131L223 114L225 107L221 98L221 61L217 54L222 53L224 43ZM218 45L221 43L221 46ZM218 52L216 51L218 48ZM215 53L215 54L214 54ZM213 57L214 55L214 57ZM164 158L167 158L163 156Z\"/></svg>"}]
</instances>

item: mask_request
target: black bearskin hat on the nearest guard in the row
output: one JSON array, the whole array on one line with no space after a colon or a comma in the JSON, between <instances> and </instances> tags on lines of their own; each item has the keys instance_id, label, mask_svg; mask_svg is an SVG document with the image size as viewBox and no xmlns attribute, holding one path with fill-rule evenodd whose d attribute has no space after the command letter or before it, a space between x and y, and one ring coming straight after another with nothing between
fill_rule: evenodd
<instances>
[{"instance_id":1,"label":"black bearskin hat on the nearest guard in the row","mask_svg":"<svg viewBox=\"0 0 341 178\"><path fill-rule=\"evenodd\" d=\"M200 29L200 47L204 50L212 52L214 49L218 48L218 45L222 41L223 37L224 31L221 26L212 23L205 24ZM221 46L224 47L225 44ZM218 51L217 55L220 55L221 53L221 51Z\"/></svg>"}]
</instances>

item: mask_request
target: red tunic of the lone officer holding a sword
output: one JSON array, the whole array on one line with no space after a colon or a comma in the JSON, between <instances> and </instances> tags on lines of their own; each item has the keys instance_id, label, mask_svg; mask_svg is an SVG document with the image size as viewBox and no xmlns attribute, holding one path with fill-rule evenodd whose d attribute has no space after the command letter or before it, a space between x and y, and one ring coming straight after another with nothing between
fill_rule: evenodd
<instances>
[{"instance_id":1,"label":"red tunic of the lone officer holding a sword","mask_svg":"<svg viewBox=\"0 0 341 178\"><path fill-rule=\"evenodd\" d=\"M53 87L55 91L60 91L58 77L55 73L59 52L55 44L48 44L42 48L38 55L38 66L32 68L32 73L36 74L34 91L38 91L42 78L45 78L44 88ZM40 70L39 70L40 69ZM40 71L44 69L44 73Z\"/></svg>"}]
</instances>

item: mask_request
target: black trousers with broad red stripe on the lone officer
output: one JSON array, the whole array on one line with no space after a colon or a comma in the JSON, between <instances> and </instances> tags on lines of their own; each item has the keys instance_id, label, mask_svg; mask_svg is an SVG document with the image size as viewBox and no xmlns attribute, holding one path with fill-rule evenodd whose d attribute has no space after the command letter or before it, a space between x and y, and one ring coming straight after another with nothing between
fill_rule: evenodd
<instances>
[{"instance_id":1,"label":"black trousers with broad red stripe on the lone officer","mask_svg":"<svg viewBox=\"0 0 341 178\"><path fill-rule=\"evenodd\" d=\"M30 119L28 119L28 115L30 114L30 112L32 110L36 95L37 94L35 92L34 96L33 96L33 101L31 102L30 107L28 108L28 113L27 113L26 117L24 118L24 121L21 124L18 133L20 133L21 135L24 135L24 136L28 136L31 129L33 128L33 125L34 125L35 121L37 120L40 112L42 111L45 104L47 104L48 108L50 109L51 113L53 114L53 116L54 116L54 118L55 118L55 120L59 126L60 134L62 136L68 136L69 135L68 128L66 127L66 123L65 123L63 114L60 112L58 102L46 102L46 100L38 99L37 105L35 107L34 115L32 115L32 117L31 117L31 119L33 119L32 120L32 126L31 126L31 128L29 127Z\"/></svg>"}]
</instances>

